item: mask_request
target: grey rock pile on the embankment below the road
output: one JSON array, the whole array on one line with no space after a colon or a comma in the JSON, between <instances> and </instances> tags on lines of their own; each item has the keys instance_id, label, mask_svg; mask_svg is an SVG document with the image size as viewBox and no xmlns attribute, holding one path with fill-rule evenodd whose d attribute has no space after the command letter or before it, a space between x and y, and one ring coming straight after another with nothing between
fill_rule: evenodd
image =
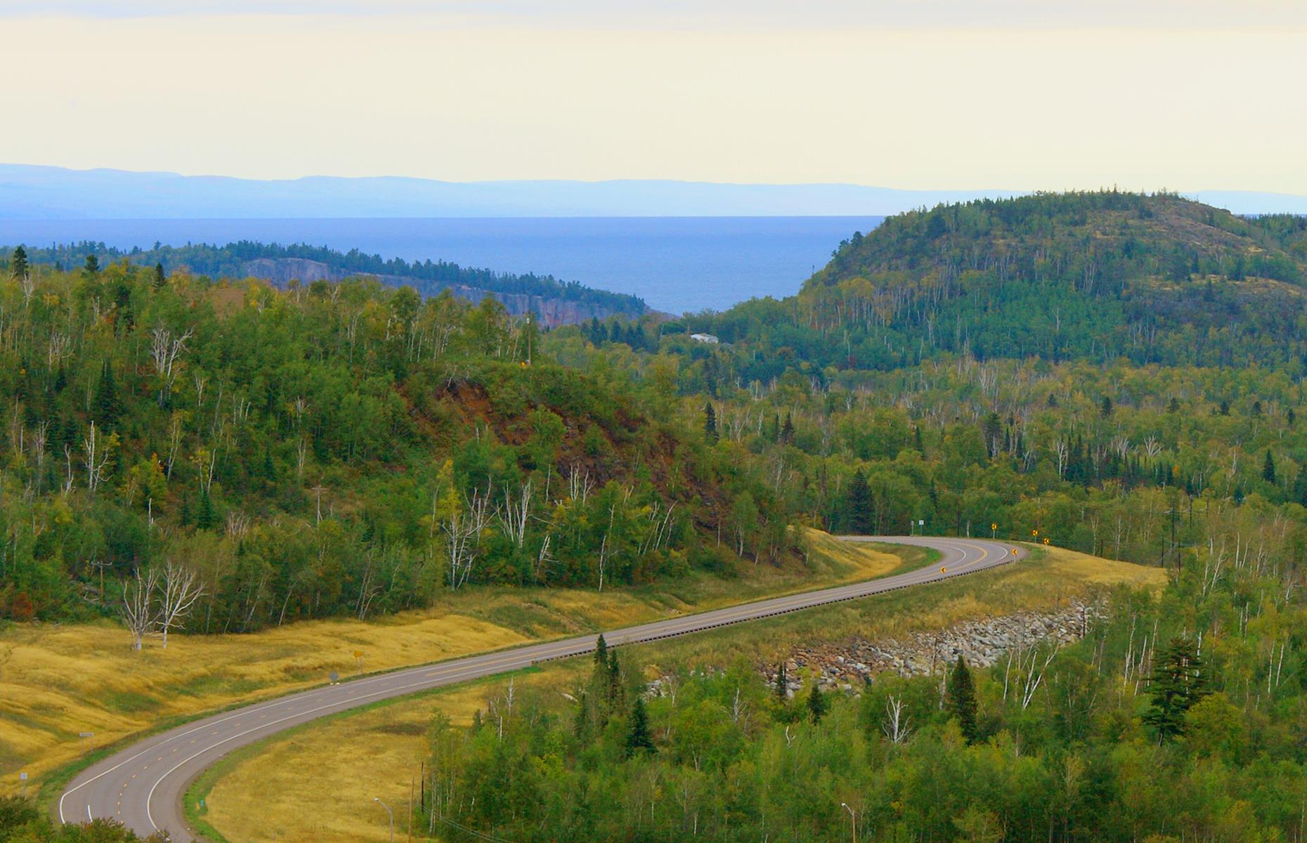
<instances>
[{"instance_id":1,"label":"grey rock pile on the embankment below the road","mask_svg":"<svg viewBox=\"0 0 1307 843\"><path fill-rule=\"evenodd\" d=\"M789 694L802 687L802 677L816 670L822 690L855 691L878 673L925 676L937 672L961 655L974 667L989 667L1004 653L1026 650L1044 642L1057 646L1084 636L1098 610L1073 603L1056 612L1017 612L1001 617L965 621L944 630L912 633L904 640L893 638L796 647L786 660ZM776 681L776 665L765 665L763 676Z\"/></svg>"}]
</instances>

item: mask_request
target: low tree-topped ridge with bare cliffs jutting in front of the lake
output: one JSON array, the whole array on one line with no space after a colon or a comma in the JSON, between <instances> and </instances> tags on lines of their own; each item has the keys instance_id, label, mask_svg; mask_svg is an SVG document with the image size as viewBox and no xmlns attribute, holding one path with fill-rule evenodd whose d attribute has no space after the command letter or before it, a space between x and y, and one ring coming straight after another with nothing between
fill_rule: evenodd
<instances>
[{"instance_id":1,"label":"low tree-topped ridge with bare cliffs jutting in front of the lake","mask_svg":"<svg viewBox=\"0 0 1307 843\"><path fill-rule=\"evenodd\" d=\"M9 251L3 248L0 254L8 255ZM438 295L448 290L471 302L480 302L491 295L508 314L514 316L535 314L540 323L549 328L591 319L605 320L618 315L633 318L650 310L635 295L596 290L575 281L558 281L552 276L498 273L447 261L386 260L379 255L366 255L358 250L340 252L306 244L280 246L242 240L226 246L158 246L152 250L123 251L103 243L84 242L50 248L27 248L31 263L52 264L65 269L80 265L86 255L91 254L101 263L125 257L139 265L162 264L169 273L187 271L214 278L254 277L278 286L286 286L291 281L307 285L315 281L370 276L387 286L412 286L422 295Z\"/></svg>"}]
</instances>

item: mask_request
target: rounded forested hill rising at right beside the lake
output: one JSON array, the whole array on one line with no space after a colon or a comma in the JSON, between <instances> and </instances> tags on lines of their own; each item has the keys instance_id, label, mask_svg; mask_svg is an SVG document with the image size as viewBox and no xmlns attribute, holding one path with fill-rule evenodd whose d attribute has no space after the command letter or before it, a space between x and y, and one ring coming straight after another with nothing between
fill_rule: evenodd
<instances>
[{"instance_id":1,"label":"rounded forested hill rising at right beside the lake","mask_svg":"<svg viewBox=\"0 0 1307 843\"><path fill-rule=\"evenodd\" d=\"M802 291L690 320L779 374L980 359L1234 366L1307 352L1307 218L1178 196L1036 195L941 205L855 234Z\"/></svg>"}]
</instances>

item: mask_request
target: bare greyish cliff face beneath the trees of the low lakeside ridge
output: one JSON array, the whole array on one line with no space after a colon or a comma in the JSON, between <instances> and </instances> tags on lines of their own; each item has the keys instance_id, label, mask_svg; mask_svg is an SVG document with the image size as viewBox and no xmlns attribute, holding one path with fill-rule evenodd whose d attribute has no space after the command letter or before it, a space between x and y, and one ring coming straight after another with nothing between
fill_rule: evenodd
<instances>
[{"instance_id":1,"label":"bare greyish cliff face beneath the trees of the low lakeside ridge","mask_svg":"<svg viewBox=\"0 0 1307 843\"><path fill-rule=\"evenodd\" d=\"M546 328L578 324L588 322L592 318L603 322L604 319L608 319L618 312L600 305L575 302L565 298L548 298L542 295L527 295L523 293L495 293L463 284L440 285L434 281L409 278L405 276L352 273L318 260L307 260L303 257L259 257L255 260L247 260L242 264L242 271L248 277L263 278L278 286L285 286L290 281L312 284L314 281L341 281L350 276L367 274L387 286L409 285L413 289L422 291L425 295L435 295L443 289L448 289L454 295L469 302L480 302L486 295L493 295L499 299L499 303L502 303L511 315L524 316L528 312L533 312L540 320L540 324Z\"/></svg>"}]
</instances>

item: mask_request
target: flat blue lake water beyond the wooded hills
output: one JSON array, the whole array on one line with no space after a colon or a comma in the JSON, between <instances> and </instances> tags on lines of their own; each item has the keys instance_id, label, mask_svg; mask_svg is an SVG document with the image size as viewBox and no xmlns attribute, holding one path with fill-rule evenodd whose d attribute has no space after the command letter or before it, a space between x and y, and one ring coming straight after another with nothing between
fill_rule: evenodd
<instances>
[{"instance_id":1,"label":"flat blue lake water beyond the wooded hills","mask_svg":"<svg viewBox=\"0 0 1307 843\"><path fill-rule=\"evenodd\" d=\"M383 257L535 272L680 314L792 295L842 239L882 217L518 217L442 220L0 220L0 243L310 243Z\"/></svg>"}]
</instances>

